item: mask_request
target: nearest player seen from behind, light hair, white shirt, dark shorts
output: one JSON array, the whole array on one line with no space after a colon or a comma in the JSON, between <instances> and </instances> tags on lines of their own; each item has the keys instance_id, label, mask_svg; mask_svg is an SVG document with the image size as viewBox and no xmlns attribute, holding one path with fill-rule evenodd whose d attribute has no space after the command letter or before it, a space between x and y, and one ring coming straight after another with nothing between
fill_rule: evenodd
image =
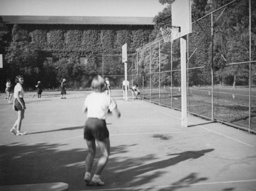
<instances>
[{"instance_id":1,"label":"nearest player seen from behind, light hair, white shirt, dark shorts","mask_svg":"<svg viewBox=\"0 0 256 191\"><path fill-rule=\"evenodd\" d=\"M108 162L110 155L109 130L106 127L105 118L109 111L113 112L118 117L120 117L121 114L114 100L104 92L106 88L105 81L101 76L98 75L93 79L91 88L93 92L87 96L82 108L83 112L87 111L87 121L84 124L83 138L86 139L88 146L84 181L87 185L92 185L93 183L104 185L104 182L100 179L100 174ZM96 154L95 140L97 141L102 155L98 160L96 172L93 178L91 178L91 170Z\"/></svg>"}]
</instances>

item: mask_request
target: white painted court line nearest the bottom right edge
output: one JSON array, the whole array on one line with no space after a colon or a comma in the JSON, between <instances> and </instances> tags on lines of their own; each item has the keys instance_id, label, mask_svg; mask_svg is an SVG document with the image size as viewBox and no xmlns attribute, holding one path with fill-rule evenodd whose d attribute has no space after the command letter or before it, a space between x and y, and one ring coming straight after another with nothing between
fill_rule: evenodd
<instances>
[{"instance_id":1,"label":"white painted court line nearest the bottom right edge","mask_svg":"<svg viewBox=\"0 0 256 191\"><path fill-rule=\"evenodd\" d=\"M213 185L213 184L228 184L228 183L240 183L240 182L254 182L256 181L256 179L251 179L251 180L234 180L234 181L221 181L221 182L206 182L206 183L194 183L194 184L177 184L177 185L162 185L162 186L140 186L140 187L125 187L125 188L110 188L110 189L90 189L88 191L93 191L93 190L97 190L97 191L106 191L106 190L125 190L125 189L150 189L150 188L168 188L168 187L185 187L185 186L203 186L203 185Z\"/></svg>"}]
</instances>

